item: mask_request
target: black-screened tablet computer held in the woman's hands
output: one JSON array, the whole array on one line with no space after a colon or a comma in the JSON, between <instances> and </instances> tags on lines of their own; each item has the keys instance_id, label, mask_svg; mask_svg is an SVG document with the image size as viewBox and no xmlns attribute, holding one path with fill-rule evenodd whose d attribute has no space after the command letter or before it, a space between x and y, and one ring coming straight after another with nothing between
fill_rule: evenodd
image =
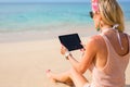
<instances>
[{"instance_id":1,"label":"black-screened tablet computer held in the woman's hands","mask_svg":"<svg viewBox=\"0 0 130 87\"><path fill-rule=\"evenodd\" d=\"M62 35L58 36L58 39L62 45L64 45L68 51L82 49L81 40L78 34L69 34L69 35Z\"/></svg>"}]
</instances>

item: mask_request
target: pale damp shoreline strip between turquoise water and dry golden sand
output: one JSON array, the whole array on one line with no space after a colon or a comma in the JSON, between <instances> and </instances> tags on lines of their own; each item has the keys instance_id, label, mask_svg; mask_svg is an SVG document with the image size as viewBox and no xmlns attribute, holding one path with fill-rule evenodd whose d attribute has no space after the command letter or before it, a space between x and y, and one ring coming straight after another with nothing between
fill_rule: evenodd
<instances>
[{"instance_id":1,"label":"pale damp shoreline strip between turquoise water and dry golden sand","mask_svg":"<svg viewBox=\"0 0 130 87\"><path fill-rule=\"evenodd\" d=\"M125 23L125 33L130 34L130 22ZM61 29L62 28L62 29ZM24 32L9 32L0 33L0 42L21 42L21 41L35 41L48 40L58 38L60 35L78 33L80 37L90 37L98 35L94 26L89 25L63 25L58 27L50 27L49 30L24 30Z\"/></svg>"}]
</instances>

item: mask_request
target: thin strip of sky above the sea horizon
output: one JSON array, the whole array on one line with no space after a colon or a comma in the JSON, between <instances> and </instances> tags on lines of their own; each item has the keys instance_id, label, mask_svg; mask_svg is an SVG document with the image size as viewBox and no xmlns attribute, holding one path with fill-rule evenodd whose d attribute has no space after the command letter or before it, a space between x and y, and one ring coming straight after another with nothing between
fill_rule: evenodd
<instances>
[{"instance_id":1,"label":"thin strip of sky above the sea horizon","mask_svg":"<svg viewBox=\"0 0 130 87\"><path fill-rule=\"evenodd\" d=\"M0 2L88 2L90 0L0 0ZM130 0L118 0L130 1Z\"/></svg>"}]
</instances>

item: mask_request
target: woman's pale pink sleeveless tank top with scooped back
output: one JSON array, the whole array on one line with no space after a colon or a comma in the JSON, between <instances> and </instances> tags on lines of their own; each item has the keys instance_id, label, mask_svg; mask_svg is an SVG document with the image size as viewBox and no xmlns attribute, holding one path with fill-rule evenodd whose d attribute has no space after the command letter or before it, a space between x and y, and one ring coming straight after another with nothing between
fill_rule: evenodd
<instances>
[{"instance_id":1,"label":"woman's pale pink sleeveless tank top with scooped back","mask_svg":"<svg viewBox=\"0 0 130 87\"><path fill-rule=\"evenodd\" d=\"M125 72L130 58L130 38L128 54L120 57L117 54L112 44L105 35L101 35L106 44L108 55L107 62L103 70L95 66L92 69L92 84L91 87L125 87L126 76Z\"/></svg>"}]
</instances>

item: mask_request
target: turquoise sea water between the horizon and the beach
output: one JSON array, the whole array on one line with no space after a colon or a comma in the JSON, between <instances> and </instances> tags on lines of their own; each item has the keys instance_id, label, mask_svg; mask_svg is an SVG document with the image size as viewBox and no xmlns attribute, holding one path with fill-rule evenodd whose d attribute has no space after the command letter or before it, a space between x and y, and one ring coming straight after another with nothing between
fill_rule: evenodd
<instances>
[{"instance_id":1,"label":"turquoise sea water between the horizon and the beach","mask_svg":"<svg viewBox=\"0 0 130 87\"><path fill-rule=\"evenodd\" d=\"M121 2L121 7L126 21L130 21L129 3ZM89 26L89 11L90 3L0 3L0 33L48 30L70 24Z\"/></svg>"}]
</instances>

